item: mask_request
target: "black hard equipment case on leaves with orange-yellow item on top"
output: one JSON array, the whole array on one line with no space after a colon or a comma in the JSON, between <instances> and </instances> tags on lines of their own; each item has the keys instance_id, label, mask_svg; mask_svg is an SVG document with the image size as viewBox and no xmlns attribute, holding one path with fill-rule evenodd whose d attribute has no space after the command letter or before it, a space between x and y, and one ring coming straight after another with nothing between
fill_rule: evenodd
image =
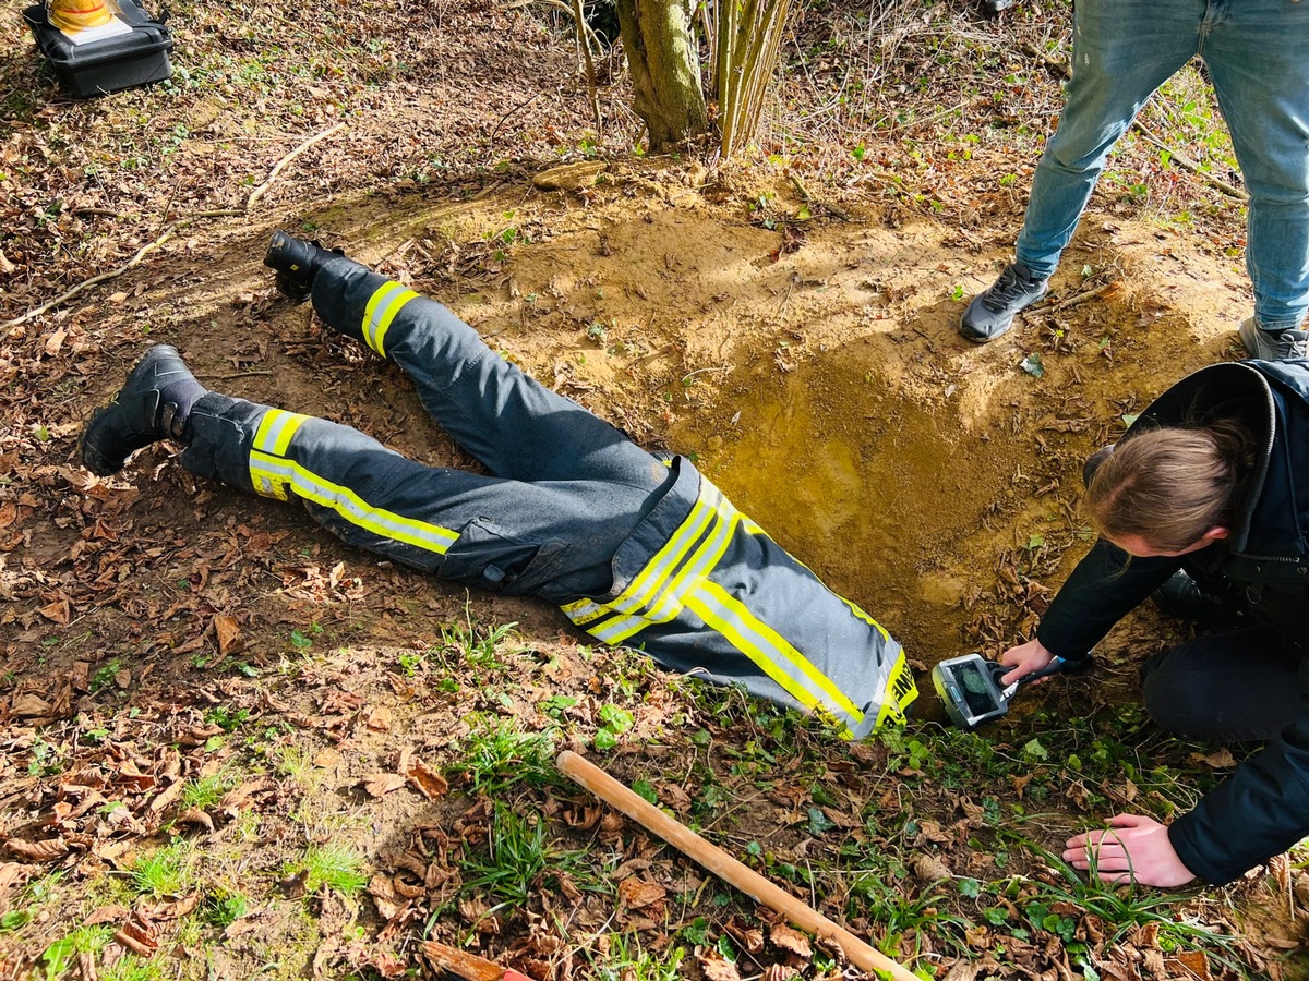
<instances>
[{"instance_id":1,"label":"black hard equipment case on leaves with orange-yellow item on top","mask_svg":"<svg viewBox=\"0 0 1309 981\"><path fill-rule=\"evenodd\" d=\"M75 44L50 22L45 4L22 12L37 47L55 67L55 75L75 95L103 95L134 85L164 81L173 75L169 52L173 35L136 0L118 0L118 18L132 29L103 41Z\"/></svg>"}]
</instances>

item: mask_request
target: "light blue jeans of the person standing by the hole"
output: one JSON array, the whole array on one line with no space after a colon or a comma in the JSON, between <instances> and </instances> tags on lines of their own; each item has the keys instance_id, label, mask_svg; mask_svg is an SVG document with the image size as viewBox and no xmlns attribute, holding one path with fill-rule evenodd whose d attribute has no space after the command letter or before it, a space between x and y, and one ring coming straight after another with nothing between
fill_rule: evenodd
<instances>
[{"instance_id":1,"label":"light blue jeans of the person standing by the hole","mask_svg":"<svg viewBox=\"0 0 1309 981\"><path fill-rule=\"evenodd\" d=\"M1017 259L1041 277L1055 271L1109 152L1195 55L1250 192L1255 317L1264 330L1299 327L1309 310L1309 0L1077 0L1072 80Z\"/></svg>"}]
</instances>

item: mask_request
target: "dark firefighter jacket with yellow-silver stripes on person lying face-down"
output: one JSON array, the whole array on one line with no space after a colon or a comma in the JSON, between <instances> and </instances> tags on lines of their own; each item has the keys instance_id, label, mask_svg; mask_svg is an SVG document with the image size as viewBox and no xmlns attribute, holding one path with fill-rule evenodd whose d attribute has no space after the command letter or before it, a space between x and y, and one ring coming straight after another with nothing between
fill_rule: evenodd
<instances>
[{"instance_id":1,"label":"dark firefighter jacket with yellow-silver stripes on person lying face-down","mask_svg":"<svg viewBox=\"0 0 1309 981\"><path fill-rule=\"evenodd\" d=\"M665 667L817 712L860 739L918 695L905 651L827 589L690 460L614 556L605 596L564 613Z\"/></svg>"}]
</instances>

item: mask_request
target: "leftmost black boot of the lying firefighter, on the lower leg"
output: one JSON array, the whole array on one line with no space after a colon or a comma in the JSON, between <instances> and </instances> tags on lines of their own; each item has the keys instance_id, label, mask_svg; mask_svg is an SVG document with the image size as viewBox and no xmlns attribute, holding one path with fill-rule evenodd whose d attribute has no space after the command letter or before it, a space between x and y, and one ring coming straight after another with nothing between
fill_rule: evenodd
<instances>
[{"instance_id":1,"label":"leftmost black boot of the lying firefighter, on the lower leg","mask_svg":"<svg viewBox=\"0 0 1309 981\"><path fill-rule=\"evenodd\" d=\"M136 450L157 439L183 439L191 407L204 395L177 348L145 352L114 400L92 416L82 433L82 463L105 477L123 468Z\"/></svg>"}]
</instances>

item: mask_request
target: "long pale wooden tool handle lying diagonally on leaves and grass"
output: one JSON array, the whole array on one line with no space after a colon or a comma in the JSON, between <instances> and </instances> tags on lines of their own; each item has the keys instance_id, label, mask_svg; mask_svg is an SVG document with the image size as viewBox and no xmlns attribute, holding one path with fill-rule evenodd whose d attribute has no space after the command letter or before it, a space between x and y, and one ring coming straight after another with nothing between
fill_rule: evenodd
<instances>
[{"instance_id":1,"label":"long pale wooden tool handle lying diagonally on leaves and grass","mask_svg":"<svg viewBox=\"0 0 1309 981\"><path fill-rule=\"evenodd\" d=\"M559 753L559 769L581 783L605 803L617 807L634 821L658 835L664 841L694 858L720 879L768 909L781 913L788 921L806 930L825 943L839 947L851 964L863 971L882 971L895 981L922 981L916 974L897 964L881 951L860 940L812 906L805 905L764 879L757 871L732 858L717 845L712 845L685 824L669 818L649 800L627 789L594 764L575 752Z\"/></svg>"}]
</instances>

